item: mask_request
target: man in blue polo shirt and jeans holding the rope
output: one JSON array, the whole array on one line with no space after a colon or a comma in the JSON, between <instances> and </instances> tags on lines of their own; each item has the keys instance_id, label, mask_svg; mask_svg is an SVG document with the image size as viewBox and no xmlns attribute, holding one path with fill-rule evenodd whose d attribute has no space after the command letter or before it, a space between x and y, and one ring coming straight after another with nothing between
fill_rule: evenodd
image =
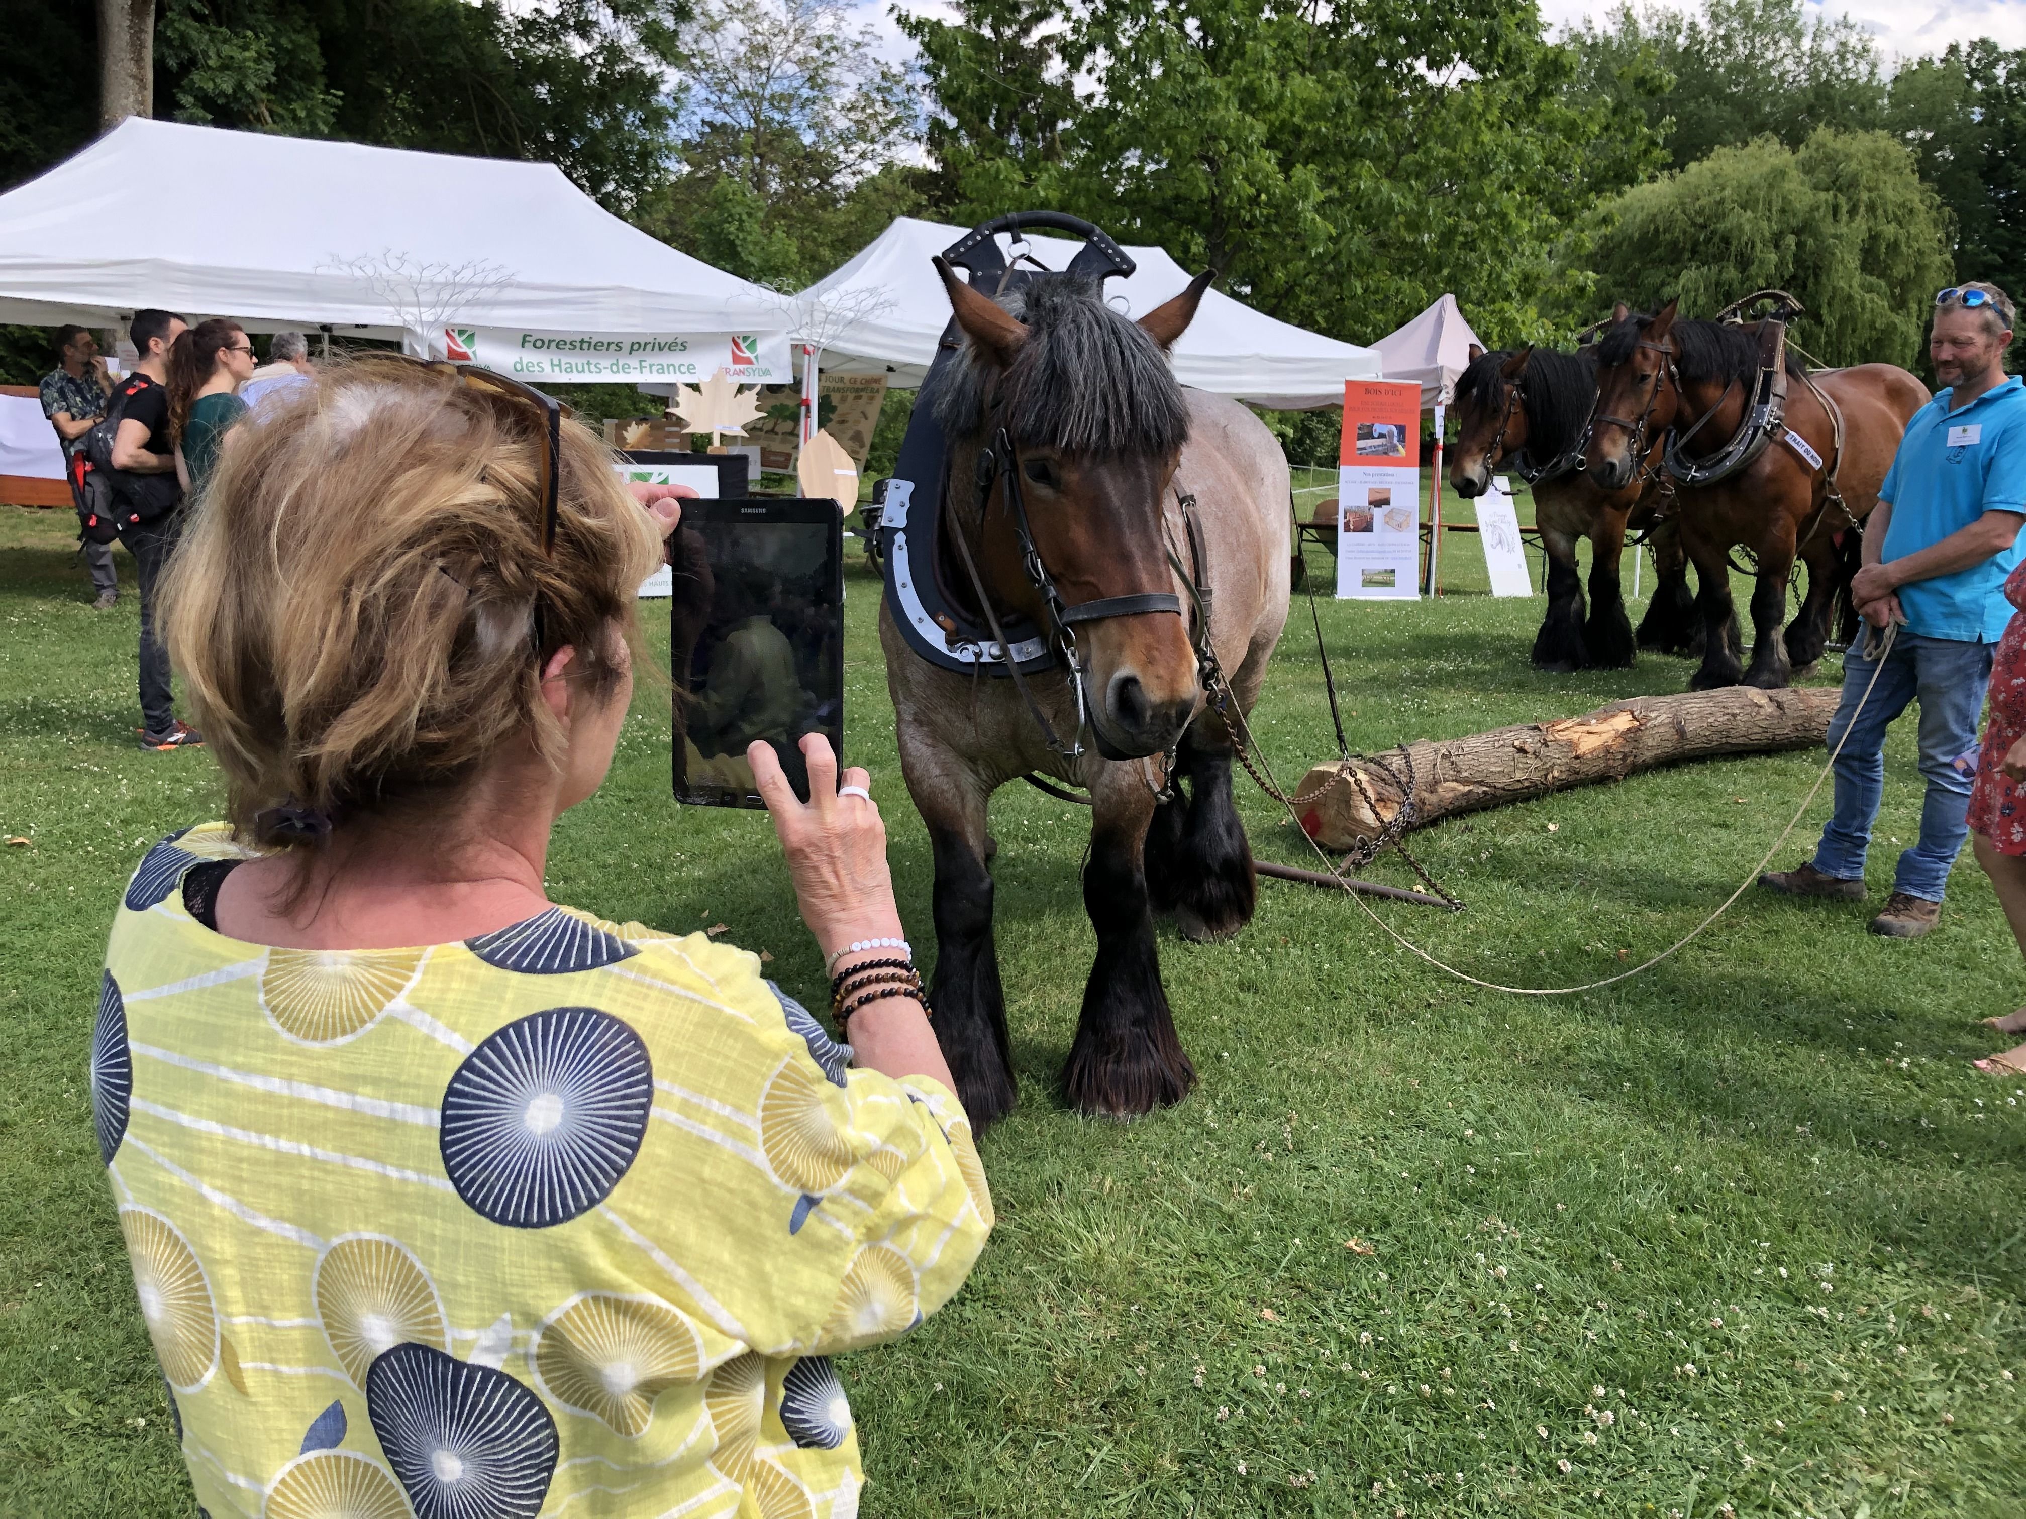
<instances>
[{"instance_id":1,"label":"man in blue polo shirt and jeans holding the rope","mask_svg":"<svg viewBox=\"0 0 2026 1519\"><path fill-rule=\"evenodd\" d=\"M1844 654L1844 697L1829 721L1836 810L1815 859L1761 875L1797 897L1864 897L1864 851L1884 790L1886 725L1921 703L1921 838L1898 857L1892 895L1870 928L1919 938L1941 917L1941 899L1969 834L1969 780L1992 654L2012 606L2006 575L2020 561L2026 523L2026 389L2004 369L2012 302L1998 286L1951 286L1935 298L1929 356L1947 387L1906 423L1898 456L1864 525L1864 567L1850 585L1866 640ZM1870 701L1884 628L1898 624Z\"/></svg>"}]
</instances>

